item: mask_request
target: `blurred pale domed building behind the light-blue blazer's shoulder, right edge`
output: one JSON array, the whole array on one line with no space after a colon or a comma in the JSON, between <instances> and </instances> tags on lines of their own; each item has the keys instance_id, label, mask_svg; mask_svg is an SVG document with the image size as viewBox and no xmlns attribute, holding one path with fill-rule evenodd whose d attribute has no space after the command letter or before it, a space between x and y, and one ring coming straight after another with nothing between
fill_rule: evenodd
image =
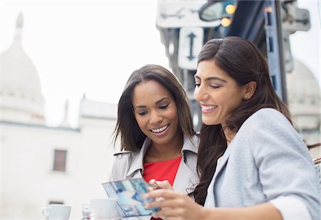
<instances>
[{"instance_id":1,"label":"blurred pale domed building behind the light-blue blazer's shoulder, right edge","mask_svg":"<svg viewBox=\"0 0 321 220\"><path fill-rule=\"evenodd\" d=\"M287 98L295 127L308 145L321 142L320 85L315 76L300 61L287 73ZM320 157L320 147L310 150L312 157Z\"/></svg>"}]
</instances>

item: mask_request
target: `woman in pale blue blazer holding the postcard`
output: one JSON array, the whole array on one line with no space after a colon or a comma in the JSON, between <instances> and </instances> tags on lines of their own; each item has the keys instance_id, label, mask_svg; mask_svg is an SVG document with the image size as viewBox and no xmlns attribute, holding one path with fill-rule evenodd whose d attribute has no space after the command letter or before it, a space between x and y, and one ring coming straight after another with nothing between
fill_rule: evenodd
<instances>
[{"instance_id":1,"label":"woman in pale blue blazer holding the postcard","mask_svg":"<svg viewBox=\"0 0 321 220\"><path fill-rule=\"evenodd\" d=\"M243 38L212 39L198 56L202 108L195 201L156 189L165 219L320 219L320 184L275 93L265 58ZM158 184L156 182L156 184ZM203 205L203 206L201 206Z\"/></svg>"}]
</instances>

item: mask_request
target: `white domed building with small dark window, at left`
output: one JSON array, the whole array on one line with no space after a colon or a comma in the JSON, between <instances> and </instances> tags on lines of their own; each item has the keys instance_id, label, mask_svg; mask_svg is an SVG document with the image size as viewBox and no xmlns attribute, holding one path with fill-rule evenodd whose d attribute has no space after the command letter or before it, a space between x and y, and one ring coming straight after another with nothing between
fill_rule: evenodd
<instances>
[{"instance_id":1,"label":"white domed building with small dark window, at left","mask_svg":"<svg viewBox=\"0 0 321 220\"><path fill-rule=\"evenodd\" d=\"M81 219L81 204L106 197L113 164L111 135L116 105L83 98L79 127L66 117L46 126L44 97L34 62L21 45L22 15L14 42L1 53L1 219L45 219L48 204L70 204Z\"/></svg>"}]
</instances>

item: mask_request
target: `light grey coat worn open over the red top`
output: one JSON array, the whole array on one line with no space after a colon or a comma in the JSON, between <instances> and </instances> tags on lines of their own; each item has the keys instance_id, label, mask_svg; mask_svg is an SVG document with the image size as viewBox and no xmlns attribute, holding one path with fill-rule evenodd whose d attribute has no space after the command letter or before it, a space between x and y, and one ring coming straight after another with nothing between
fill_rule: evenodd
<instances>
[{"instance_id":1,"label":"light grey coat worn open over the red top","mask_svg":"<svg viewBox=\"0 0 321 220\"><path fill-rule=\"evenodd\" d=\"M143 146L138 152L123 151L114 154L116 156L111 171L111 181L122 179L143 178L143 158L146 154L151 140L147 137ZM198 174L196 172L196 162L198 157L198 137L193 136L192 141L184 137L182 147L183 159L180 161L178 171L173 182L173 188L177 192L184 194L193 193L198 184ZM134 217L130 219L151 219L151 216ZM126 219L127 220L127 219Z\"/></svg>"}]
</instances>

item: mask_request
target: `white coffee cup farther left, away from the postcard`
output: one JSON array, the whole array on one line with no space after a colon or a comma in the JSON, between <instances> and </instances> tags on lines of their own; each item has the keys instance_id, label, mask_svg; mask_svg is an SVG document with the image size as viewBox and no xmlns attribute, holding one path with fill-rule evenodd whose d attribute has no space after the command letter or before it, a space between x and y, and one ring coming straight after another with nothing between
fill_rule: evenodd
<instances>
[{"instance_id":1,"label":"white coffee cup farther left, away from the postcard","mask_svg":"<svg viewBox=\"0 0 321 220\"><path fill-rule=\"evenodd\" d=\"M41 211L44 216L49 217L49 220L68 220L70 212L71 206L65 204L50 204Z\"/></svg>"}]
</instances>

